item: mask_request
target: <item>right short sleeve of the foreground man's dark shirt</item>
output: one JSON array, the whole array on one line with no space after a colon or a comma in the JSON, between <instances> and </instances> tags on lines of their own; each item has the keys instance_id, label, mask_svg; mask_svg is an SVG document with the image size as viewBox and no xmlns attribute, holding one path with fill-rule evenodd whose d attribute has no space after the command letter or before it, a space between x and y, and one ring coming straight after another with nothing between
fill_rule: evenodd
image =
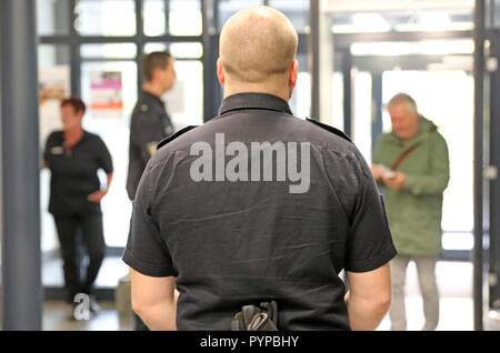
<instances>
[{"instance_id":1,"label":"right short sleeve of the foreground man's dark shirt","mask_svg":"<svg viewBox=\"0 0 500 353\"><path fill-rule=\"evenodd\" d=\"M352 167L359 180L359 193L350 216L346 271L368 272L396 256L382 195L371 176L367 162L354 152Z\"/></svg>"}]
</instances>

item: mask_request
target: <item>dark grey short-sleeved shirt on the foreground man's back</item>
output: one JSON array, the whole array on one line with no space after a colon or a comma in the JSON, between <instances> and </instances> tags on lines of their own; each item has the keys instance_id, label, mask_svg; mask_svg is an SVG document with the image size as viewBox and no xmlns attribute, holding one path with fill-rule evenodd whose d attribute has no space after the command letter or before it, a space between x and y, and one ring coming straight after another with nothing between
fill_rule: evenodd
<instances>
[{"instance_id":1,"label":"dark grey short-sleeved shirt on the foreground man's back","mask_svg":"<svg viewBox=\"0 0 500 353\"><path fill-rule=\"evenodd\" d=\"M251 181L252 142L282 142L287 169L296 159L296 171L307 170L309 161L308 190L290 192L299 184L290 170L279 179L278 153L253 175L263 180L272 169L272 180ZM292 153L308 143L309 155ZM139 184L123 260L146 275L177 276L179 330L230 330L242 305L270 300L281 330L349 330L339 273L374 270L396 249L370 169L342 132L292 117L280 98L241 93L224 99L219 117L160 147ZM229 181L242 147L248 176L241 163L239 180ZM207 170L203 148L213 151Z\"/></svg>"}]
</instances>

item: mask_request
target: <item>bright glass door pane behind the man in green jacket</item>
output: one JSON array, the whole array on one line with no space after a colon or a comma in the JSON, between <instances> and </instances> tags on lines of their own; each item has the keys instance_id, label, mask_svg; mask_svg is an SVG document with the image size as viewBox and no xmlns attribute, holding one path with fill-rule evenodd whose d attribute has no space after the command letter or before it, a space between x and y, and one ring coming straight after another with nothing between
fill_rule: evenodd
<instances>
[{"instance_id":1,"label":"bright glass door pane behind the man in green jacket","mask_svg":"<svg viewBox=\"0 0 500 353\"><path fill-rule=\"evenodd\" d=\"M464 71L387 71L382 81L383 103L398 92L409 93L419 112L438 125L450 153L450 181L444 190L442 228L444 231L471 231L473 78ZM387 111L384 115L390 127Z\"/></svg>"}]
</instances>

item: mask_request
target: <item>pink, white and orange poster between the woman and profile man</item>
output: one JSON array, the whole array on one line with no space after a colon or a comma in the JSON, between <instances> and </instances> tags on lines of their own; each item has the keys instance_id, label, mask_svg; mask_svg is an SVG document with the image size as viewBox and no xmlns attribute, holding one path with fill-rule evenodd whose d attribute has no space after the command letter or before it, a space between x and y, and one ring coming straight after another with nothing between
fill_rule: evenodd
<instances>
[{"instance_id":1,"label":"pink, white and orange poster between the woman and profile man","mask_svg":"<svg viewBox=\"0 0 500 353\"><path fill-rule=\"evenodd\" d=\"M93 118L123 117L121 71L90 72L90 100Z\"/></svg>"}]
</instances>

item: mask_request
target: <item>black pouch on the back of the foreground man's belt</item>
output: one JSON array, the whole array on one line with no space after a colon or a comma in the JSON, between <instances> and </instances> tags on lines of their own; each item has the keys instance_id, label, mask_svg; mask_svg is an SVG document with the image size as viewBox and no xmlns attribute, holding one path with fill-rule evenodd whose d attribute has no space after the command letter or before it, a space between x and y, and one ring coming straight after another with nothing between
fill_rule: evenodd
<instances>
[{"instance_id":1,"label":"black pouch on the back of the foreground man's belt","mask_svg":"<svg viewBox=\"0 0 500 353\"><path fill-rule=\"evenodd\" d=\"M231 322L231 331L278 331L277 302L242 306Z\"/></svg>"}]
</instances>

